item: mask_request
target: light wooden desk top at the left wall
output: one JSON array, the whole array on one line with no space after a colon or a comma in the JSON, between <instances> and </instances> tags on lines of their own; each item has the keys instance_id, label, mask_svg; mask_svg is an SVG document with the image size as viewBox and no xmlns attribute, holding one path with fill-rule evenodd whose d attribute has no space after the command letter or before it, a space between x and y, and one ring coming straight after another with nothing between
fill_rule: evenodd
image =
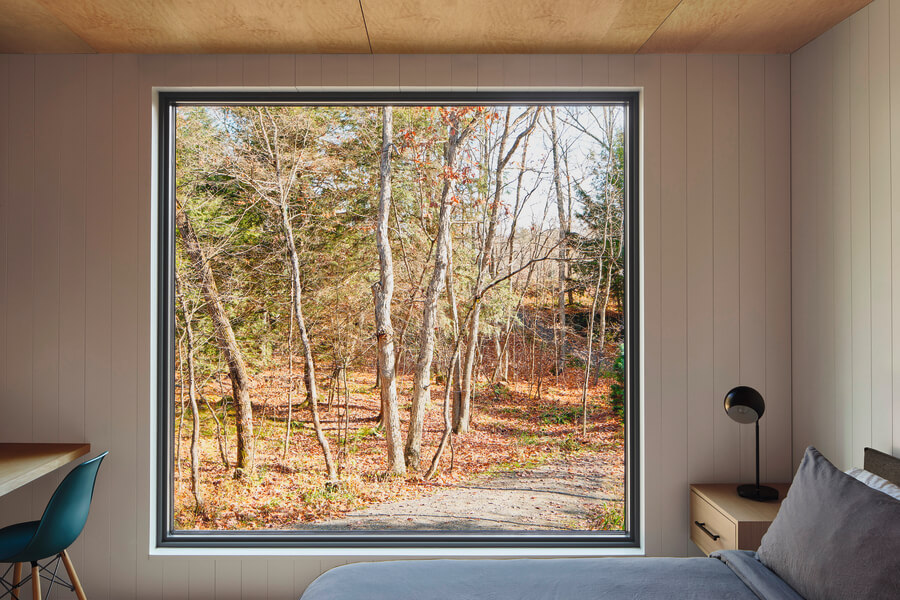
<instances>
[{"instance_id":1,"label":"light wooden desk top at the left wall","mask_svg":"<svg viewBox=\"0 0 900 600\"><path fill-rule=\"evenodd\" d=\"M0 496L90 451L90 444L0 444Z\"/></svg>"}]
</instances>

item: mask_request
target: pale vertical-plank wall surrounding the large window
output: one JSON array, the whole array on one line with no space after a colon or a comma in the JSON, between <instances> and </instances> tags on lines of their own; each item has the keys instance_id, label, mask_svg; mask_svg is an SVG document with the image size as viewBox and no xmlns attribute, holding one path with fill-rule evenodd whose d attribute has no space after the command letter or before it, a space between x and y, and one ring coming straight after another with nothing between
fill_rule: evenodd
<instances>
[{"instance_id":1,"label":"pale vertical-plank wall surrounding the large window","mask_svg":"<svg viewBox=\"0 0 900 600\"><path fill-rule=\"evenodd\" d=\"M154 86L642 89L646 549L685 555L688 483L752 476L752 431L722 411L730 387L763 392L763 474L791 475L790 68L787 56L0 55L0 439L110 450L75 548L91 597L291 598L354 560L148 556ZM36 517L58 479L0 499L0 524Z\"/></svg>"}]
</instances>

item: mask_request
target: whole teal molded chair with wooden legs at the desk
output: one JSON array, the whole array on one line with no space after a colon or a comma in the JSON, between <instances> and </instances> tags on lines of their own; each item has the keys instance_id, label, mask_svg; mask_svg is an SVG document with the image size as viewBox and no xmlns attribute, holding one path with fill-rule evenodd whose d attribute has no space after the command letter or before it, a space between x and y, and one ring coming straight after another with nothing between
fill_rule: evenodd
<instances>
[{"instance_id":1,"label":"whole teal molded chair with wooden legs at the desk","mask_svg":"<svg viewBox=\"0 0 900 600\"><path fill-rule=\"evenodd\" d=\"M40 600L43 577L50 582L48 594L54 584L59 584L73 590L79 600L86 600L66 550L78 539L87 522L97 471L107 454L104 452L72 469L53 492L40 521L17 523L0 529L0 563L12 563L0 577L0 585L3 586L0 598L7 595L18 598L19 588L30 580L32 597ZM39 561L47 559L50 560L40 564ZM69 574L70 583L56 575L60 560ZM31 563L31 575L24 580L23 563ZM12 583L6 579L10 569L13 570Z\"/></svg>"}]
</instances>

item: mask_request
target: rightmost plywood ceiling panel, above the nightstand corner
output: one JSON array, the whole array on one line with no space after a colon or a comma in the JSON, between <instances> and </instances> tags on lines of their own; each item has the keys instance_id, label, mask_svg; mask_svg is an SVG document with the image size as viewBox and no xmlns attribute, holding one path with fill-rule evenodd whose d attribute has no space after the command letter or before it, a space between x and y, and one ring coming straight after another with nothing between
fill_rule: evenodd
<instances>
[{"instance_id":1,"label":"rightmost plywood ceiling panel, above the nightstand corner","mask_svg":"<svg viewBox=\"0 0 900 600\"><path fill-rule=\"evenodd\" d=\"M641 52L793 52L870 0L682 0Z\"/></svg>"}]
</instances>

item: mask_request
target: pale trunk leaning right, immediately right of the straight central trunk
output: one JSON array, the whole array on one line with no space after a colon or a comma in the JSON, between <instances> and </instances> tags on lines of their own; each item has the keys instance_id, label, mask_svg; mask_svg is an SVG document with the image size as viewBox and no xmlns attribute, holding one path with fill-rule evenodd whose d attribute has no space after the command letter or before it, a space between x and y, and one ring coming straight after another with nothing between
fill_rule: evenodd
<instances>
[{"instance_id":1,"label":"pale trunk leaning right, immediately right of the straight central trunk","mask_svg":"<svg viewBox=\"0 0 900 600\"><path fill-rule=\"evenodd\" d=\"M450 135L444 153L444 167L452 176L456 166L459 146L470 132L467 126L459 130L458 117L453 115ZM425 424L425 410L431 399L431 362L434 358L434 328L437 323L437 300L443 291L447 273L448 247L450 245L450 198L453 195L453 179L448 176L441 189L440 213L434 258L434 271L425 291L425 306L422 312L422 328L419 333L419 357L413 378L412 406L410 408L409 431L406 436L406 463L411 469L419 468L422 452L422 429ZM449 385L449 382L448 382Z\"/></svg>"}]
</instances>

